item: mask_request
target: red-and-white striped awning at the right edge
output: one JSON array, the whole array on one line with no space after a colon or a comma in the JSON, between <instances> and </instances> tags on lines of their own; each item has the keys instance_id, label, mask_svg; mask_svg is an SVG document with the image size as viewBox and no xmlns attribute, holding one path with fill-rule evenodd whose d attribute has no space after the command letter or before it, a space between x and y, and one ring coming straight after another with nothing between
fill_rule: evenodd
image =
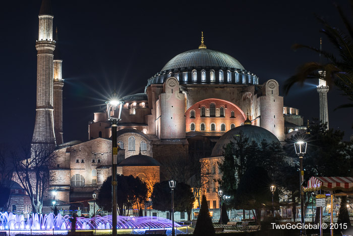
<instances>
[{"instance_id":1,"label":"red-and-white striped awning at the right edge","mask_svg":"<svg viewBox=\"0 0 353 236\"><path fill-rule=\"evenodd\" d=\"M315 177L308 181L308 187L304 191L353 191L353 177Z\"/></svg>"}]
</instances>

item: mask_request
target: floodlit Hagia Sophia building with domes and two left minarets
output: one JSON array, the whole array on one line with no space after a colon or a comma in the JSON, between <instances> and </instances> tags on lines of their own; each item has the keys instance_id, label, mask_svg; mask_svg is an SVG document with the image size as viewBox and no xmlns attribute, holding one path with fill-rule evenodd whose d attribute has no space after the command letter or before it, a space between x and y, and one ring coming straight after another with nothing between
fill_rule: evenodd
<instances>
[{"instance_id":1,"label":"floodlit Hagia Sophia building with domes and two left minarets","mask_svg":"<svg viewBox=\"0 0 353 236\"><path fill-rule=\"evenodd\" d=\"M65 140L65 58L59 54L52 24L50 1L43 0L35 45L37 115L32 142L45 139L57 147L58 159L51 170L56 178L50 181L49 188L57 191L59 209L69 210L68 203L75 202L75 207L92 215L92 201L88 200L111 175L111 125L107 113L116 115L120 106L117 171L144 181L168 179L170 176L163 171L165 160L190 155L207 161L210 179L220 177L217 161L234 134L242 131L258 143L266 139L284 144L288 133L306 129L299 110L284 106L276 80L261 79L232 56L208 49L202 34L201 43L195 39L194 49L175 52L179 54L164 66L155 65L157 73L148 79L144 91L123 97L124 103L109 111L92 114L87 141ZM207 201L210 209L217 209L218 183L210 182L205 189ZM21 211L19 206L17 209Z\"/></svg>"}]
</instances>

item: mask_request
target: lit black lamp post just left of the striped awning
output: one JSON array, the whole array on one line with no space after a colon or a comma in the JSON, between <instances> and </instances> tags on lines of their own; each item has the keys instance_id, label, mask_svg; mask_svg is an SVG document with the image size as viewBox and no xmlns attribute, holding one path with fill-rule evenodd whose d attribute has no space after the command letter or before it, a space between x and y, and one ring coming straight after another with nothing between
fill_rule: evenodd
<instances>
[{"instance_id":1,"label":"lit black lamp post just left of the striped awning","mask_svg":"<svg viewBox=\"0 0 353 236\"><path fill-rule=\"evenodd\" d=\"M304 212L304 191L302 183L304 181L304 170L303 170L303 156L307 152L307 142L305 141L298 141L294 143L294 148L296 150L296 154L299 156L300 161L300 196L301 196L301 218L302 218L302 225L305 224L305 212ZM300 235L306 235L305 227L302 227Z\"/></svg>"}]
</instances>

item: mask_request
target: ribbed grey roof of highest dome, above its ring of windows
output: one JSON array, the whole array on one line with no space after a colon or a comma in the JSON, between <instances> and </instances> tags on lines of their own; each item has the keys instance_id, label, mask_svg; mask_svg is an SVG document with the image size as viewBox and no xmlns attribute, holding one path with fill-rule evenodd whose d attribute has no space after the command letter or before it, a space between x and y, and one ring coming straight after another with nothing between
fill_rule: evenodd
<instances>
[{"instance_id":1,"label":"ribbed grey roof of highest dome, above its ring of windows","mask_svg":"<svg viewBox=\"0 0 353 236\"><path fill-rule=\"evenodd\" d=\"M243 69L239 61L228 54L209 49L195 49L181 53L171 59L161 71L168 71L183 67L210 67Z\"/></svg>"}]
</instances>

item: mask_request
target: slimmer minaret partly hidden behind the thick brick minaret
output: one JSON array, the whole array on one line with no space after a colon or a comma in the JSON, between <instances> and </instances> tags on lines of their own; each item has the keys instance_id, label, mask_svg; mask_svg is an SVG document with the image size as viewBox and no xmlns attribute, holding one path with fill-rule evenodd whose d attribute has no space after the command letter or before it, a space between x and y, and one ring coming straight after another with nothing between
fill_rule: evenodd
<instances>
[{"instance_id":1,"label":"slimmer minaret partly hidden behind the thick brick minaret","mask_svg":"<svg viewBox=\"0 0 353 236\"><path fill-rule=\"evenodd\" d=\"M54 51L54 131L56 145L64 143L63 140L63 87L64 79L62 75L63 60L57 43L57 27L55 30L55 51Z\"/></svg>"}]
</instances>

